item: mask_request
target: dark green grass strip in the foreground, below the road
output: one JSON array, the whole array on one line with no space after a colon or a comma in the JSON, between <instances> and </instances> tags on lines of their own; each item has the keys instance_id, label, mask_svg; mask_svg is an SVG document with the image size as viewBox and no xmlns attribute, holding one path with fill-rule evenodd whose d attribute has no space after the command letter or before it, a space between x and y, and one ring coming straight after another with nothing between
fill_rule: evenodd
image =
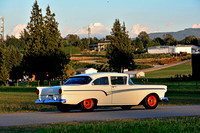
<instances>
[{"instance_id":1,"label":"dark green grass strip in the foreground, below the road","mask_svg":"<svg viewBox=\"0 0 200 133\"><path fill-rule=\"evenodd\" d=\"M153 119L125 119L112 121L66 122L29 126L0 127L0 132L42 133L161 133L199 132L200 117L176 117Z\"/></svg>"}]
</instances>

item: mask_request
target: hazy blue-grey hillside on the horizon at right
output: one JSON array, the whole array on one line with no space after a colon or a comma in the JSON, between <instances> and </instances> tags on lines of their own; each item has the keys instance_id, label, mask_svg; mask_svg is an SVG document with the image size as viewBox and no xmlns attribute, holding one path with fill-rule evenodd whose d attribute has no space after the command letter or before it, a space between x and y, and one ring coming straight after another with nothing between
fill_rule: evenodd
<instances>
[{"instance_id":1,"label":"hazy blue-grey hillside on the horizon at right","mask_svg":"<svg viewBox=\"0 0 200 133\"><path fill-rule=\"evenodd\" d=\"M160 37L163 38L164 34L172 34L173 37L180 41L183 40L186 36L195 35L197 38L200 38L200 28L189 28L177 32L160 32L160 33L150 33L149 36L151 39Z\"/></svg>"}]
</instances>

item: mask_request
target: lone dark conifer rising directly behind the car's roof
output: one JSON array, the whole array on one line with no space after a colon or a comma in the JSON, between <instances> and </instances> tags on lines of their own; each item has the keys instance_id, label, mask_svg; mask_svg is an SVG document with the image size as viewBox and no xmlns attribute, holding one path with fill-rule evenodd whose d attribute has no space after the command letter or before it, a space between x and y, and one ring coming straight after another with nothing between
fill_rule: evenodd
<instances>
[{"instance_id":1,"label":"lone dark conifer rising directly behind the car's roof","mask_svg":"<svg viewBox=\"0 0 200 133\"><path fill-rule=\"evenodd\" d=\"M131 40L126 31L125 23L121 26L119 20L116 19L111 36L111 44L106 51L106 57L114 71L123 72L125 68L134 65Z\"/></svg>"}]
</instances>

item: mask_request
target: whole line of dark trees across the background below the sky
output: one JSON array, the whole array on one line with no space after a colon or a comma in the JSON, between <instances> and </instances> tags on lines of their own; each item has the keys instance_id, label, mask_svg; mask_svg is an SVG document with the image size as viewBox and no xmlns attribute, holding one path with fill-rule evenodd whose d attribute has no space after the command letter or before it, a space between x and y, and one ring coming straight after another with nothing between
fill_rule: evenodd
<instances>
[{"instance_id":1,"label":"whole line of dark trees across the background below the sky","mask_svg":"<svg viewBox=\"0 0 200 133\"><path fill-rule=\"evenodd\" d=\"M121 25L116 19L110 35L105 38L80 38L78 35L69 34L61 37L58 30L58 22L55 13L51 13L50 6L46 8L46 15L35 1L30 22L27 28L20 34L20 38L7 36L5 42L0 42L0 81L6 83L8 79L22 79L23 75L35 75L41 84L45 79L67 79L74 74L69 65L70 56L64 51L68 45L78 47L81 50L89 49L90 44L110 40L111 44L106 51L109 59L110 71L123 72L125 68L133 68L135 54L144 53L148 47L158 45L194 44L200 46L200 38L188 36L177 41L171 34L162 38L150 39L150 36L142 31L138 37L132 40L125 23Z\"/></svg>"}]
</instances>

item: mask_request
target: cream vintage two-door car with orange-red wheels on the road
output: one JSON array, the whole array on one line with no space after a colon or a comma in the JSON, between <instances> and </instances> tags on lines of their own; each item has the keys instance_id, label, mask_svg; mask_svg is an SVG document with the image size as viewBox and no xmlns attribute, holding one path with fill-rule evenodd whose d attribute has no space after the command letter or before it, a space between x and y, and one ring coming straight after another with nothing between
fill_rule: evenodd
<instances>
[{"instance_id":1,"label":"cream vintage two-door car with orange-red wheels on the road","mask_svg":"<svg viewBox=\"0 0 200 133\"><path fill-rule=\"evenodd\" d=\"M39 99L35 103L51 104L67 112L73 107L93 111L99 106L119 106L130 109L143 104L146 109L155 109L165 97L165 85L136 85L124 73L93 73L75 75L63 86L37 87Z\"/></svg>"}]
</instances>

